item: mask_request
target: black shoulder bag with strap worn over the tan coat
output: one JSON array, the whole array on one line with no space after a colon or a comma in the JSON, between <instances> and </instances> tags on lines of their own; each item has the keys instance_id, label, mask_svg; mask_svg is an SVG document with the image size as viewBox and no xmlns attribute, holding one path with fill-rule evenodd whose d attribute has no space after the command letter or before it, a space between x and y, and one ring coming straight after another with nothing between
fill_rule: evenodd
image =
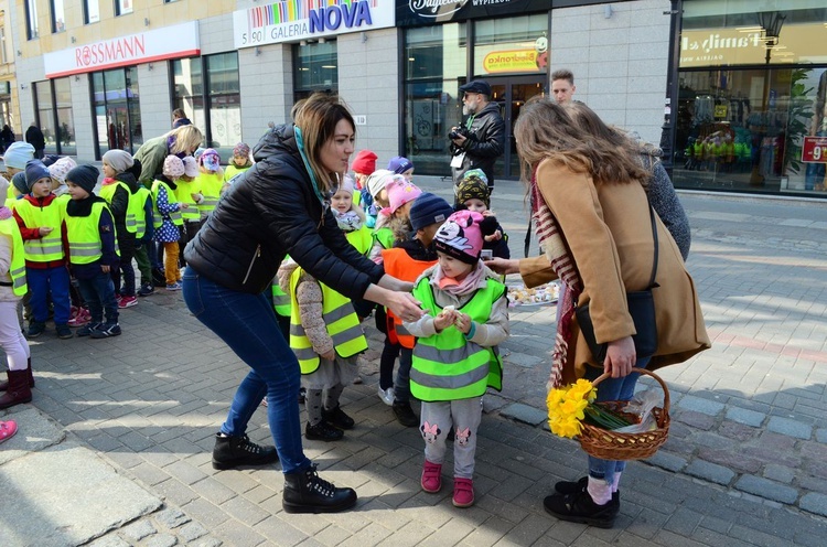
<instances>
[{"instance_id":1,"label":"black shoulder bag with strap worn over the tan coat","mask_svg":"<svg viewBox=\"0 0 827 547\"><path fill-rule=\"evenodd\" d=\"M655 212L652 206L649 206L649 218L652 221L652 238L655 240L655 260L652 265L649 285L646 290L626 292L629 314L632 315L637 332L632 336L632 340L634 340L638 360L651 357L657 351L657 323L655 321L655 301L652 298L652 289L660 286L655 282L655 276L657 275L657 227L655 226ZM598 344L594 339L594 325L591 322L589 304L578 305L574 315L594 361L602 364L609 344Z\"/></svg>"}]
</instances>

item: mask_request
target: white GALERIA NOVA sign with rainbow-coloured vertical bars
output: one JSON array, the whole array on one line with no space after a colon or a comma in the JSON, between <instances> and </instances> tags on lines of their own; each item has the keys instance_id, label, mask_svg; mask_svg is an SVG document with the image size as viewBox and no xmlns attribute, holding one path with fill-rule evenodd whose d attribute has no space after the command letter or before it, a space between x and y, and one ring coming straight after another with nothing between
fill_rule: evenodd
<instances>
[{"instance_id":1,"label":"white GALERIA NOVA sign with rainbow-coloured vertical bars","mask_svg":"<svg viewBox=\"0 0 827 547\"><path fill-rule=\"evenodd\" d=\"M318 40L395 24L394 0L287 0L233 13L235 46Z\"/></svg>"}]
</instances>

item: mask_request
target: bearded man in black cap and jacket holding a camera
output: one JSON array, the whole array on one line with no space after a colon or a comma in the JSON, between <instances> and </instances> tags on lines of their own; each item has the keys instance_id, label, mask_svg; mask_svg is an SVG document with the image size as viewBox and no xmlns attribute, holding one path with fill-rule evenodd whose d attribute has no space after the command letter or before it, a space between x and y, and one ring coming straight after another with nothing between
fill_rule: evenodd
<instances>
[{"instance_id":1,"label":"bearded man in black cap and jacket holding a camera","mask_svg":"<svg viewBox=\"0 0 827 547\"><path fill-rule=\"evenodd\" d=\"M471 169L481 169L488 179L488 191L494 190L494 162L505 149L505 122L500 106L491 100L491 86L484 79L474 79L460 86L462 115L465 124L452 127L451 172L454 195L462 175Z\"/></svg>"}]
</instances>

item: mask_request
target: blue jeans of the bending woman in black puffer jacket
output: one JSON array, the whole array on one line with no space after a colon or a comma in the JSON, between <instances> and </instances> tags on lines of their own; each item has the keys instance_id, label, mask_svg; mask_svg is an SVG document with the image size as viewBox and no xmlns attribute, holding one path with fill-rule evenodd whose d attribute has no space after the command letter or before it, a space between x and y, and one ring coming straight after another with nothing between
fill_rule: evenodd
<instances>
[{"instance_id":1,"label":"blue jeans of the bending woman in black puffer jacket","mask_svg":"<svg viewBox=\"0 0 827 547\"><path fill-rule=\"evenodd\" d=\"M299 361L284 341L267 297L223 287L192 268L183 276L184 302L251 368L238 386L222 433L240 437L267 395L267 420L284 473L311 465L301 446Z\"/></svg>"}]
</instances>

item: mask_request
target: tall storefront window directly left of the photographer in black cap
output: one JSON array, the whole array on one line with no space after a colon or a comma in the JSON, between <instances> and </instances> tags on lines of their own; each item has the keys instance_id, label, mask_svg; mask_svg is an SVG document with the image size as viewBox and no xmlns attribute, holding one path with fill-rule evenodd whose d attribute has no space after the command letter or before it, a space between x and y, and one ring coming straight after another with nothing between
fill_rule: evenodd
<instances>
[{"instance_id":1,"label":"tall storefront window directly left of the photographer in black cap","mask_svg":"<svg viewBox=\"0 0 827 547\"><path fill-rule=\"evenodd\" d=\"M447 171L448 132L462 119L458 98L468 74L466 44L465 23L405 33L405 154L418 172Z\"/></svg>"}]
</instances>

